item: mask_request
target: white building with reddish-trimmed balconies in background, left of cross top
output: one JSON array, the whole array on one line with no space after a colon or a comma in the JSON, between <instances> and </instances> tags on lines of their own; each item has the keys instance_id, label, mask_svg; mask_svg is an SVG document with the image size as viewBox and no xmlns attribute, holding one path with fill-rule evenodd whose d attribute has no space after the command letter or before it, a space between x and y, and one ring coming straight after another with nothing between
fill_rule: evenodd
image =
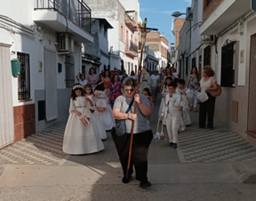
<instances>
[{"instance_id":1,"label":"white building with reddish-trimmed balconies in background, left of cross top","mask_svg":"<svg viewBox=\"0 0 256 201\"><path fill-rule=\"evenodd\" d=\"M130 74L137 72L139 57L140 4L138 0L86 0L93 18L105 18L113 29L108 33L110 70L118 68Z\"/></svg>"}]
</instances>

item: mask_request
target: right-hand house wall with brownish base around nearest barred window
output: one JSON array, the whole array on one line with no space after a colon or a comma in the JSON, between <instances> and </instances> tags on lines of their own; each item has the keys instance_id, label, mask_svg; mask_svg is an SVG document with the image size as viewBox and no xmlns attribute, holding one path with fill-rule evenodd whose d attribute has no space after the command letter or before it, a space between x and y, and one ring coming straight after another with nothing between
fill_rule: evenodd
<instances>
[{"instance_id":1,"label":"right-hand house wall with brownish base around nearest barred window","mask_svg":"<svg viewBox=\"0 0 256 201\"><path fill-rule=\"evenodd\" d=\"M251 50L251 35L256 34L256 17L252 17L244 21L244 34L238 33L238 27L229 30L225 35L221 35L218 40L218 51L221 52L222 45L227 39L236 41L238 49L235 52L235 88L222 87L222 93L217 98L215 114L220 120L225 121L240 135L247 137L248 122L248 96L249 96L249 73L250 73L250 50ZM241 61L241 51L244 50L244 62ZM221 53L220 53L221 55ZM220 81L220 66L221 57L217 59L217 78ZM220 83L220 82L219 82ZM232 120L232 102L238 103L238 120ZM220 104L221 103L221 104Z\"/></svg>"}]
</instances>

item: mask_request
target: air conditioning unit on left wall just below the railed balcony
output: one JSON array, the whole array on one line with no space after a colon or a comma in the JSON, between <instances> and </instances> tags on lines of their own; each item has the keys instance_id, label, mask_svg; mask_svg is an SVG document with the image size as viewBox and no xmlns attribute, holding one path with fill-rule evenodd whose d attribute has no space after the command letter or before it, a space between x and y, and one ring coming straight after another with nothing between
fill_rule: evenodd
<instances>
[{"instance_id":1,"label":"air conditioning unit on left wall just below the railed balcony","mask_svg":"<svg viewBox=\"0 0 256 201\"><path fill-rule=\"evenodd\" d=\"M74 39L72 35L59 34L59 51L60 52L74 52Z\"/></svg>"}]
</instances>

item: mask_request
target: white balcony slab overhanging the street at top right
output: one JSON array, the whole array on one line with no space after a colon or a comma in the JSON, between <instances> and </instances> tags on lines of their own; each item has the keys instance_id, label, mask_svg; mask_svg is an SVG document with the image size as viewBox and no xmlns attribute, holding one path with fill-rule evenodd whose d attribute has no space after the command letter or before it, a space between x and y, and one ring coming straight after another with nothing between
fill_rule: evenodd
<instances>
[{"instance_id":1,"label":"white balcony slab overhanging the street at top right","mask_svg":"<svg viewBox=\"0 0 256 201\"><path fill-rule=\"evenodd\" d=\"M209 1L211 4L211 1ZM251 12L251 0L225 0L205 19L200 35L218 35L236 20Z\"/></svg>"}]
</instances>

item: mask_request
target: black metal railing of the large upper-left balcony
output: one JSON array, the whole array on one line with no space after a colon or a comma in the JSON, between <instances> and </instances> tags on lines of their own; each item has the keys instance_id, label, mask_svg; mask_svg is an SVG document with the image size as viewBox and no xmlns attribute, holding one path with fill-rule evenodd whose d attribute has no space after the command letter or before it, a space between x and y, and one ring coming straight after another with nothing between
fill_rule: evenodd
<instances>
[{"instance_id":1,"label":"black metal railing of the large upper-left balcony","mask_svg":"<svg viewBox=\"0 0 256 201\"><path fill-rule=\"evenodd\" d=\"M92 11L84 0L36 0L35 10L60 12L77 26L91 33Z\"/></svg>"}]
</instances>

